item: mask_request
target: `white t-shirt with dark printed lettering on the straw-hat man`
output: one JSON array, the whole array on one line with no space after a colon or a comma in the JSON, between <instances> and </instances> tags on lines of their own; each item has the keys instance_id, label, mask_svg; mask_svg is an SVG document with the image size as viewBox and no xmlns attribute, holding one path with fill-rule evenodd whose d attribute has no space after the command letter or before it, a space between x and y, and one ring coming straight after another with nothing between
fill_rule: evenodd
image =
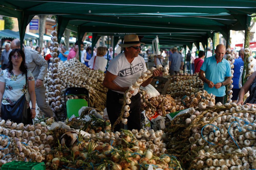
<instances>
[{"instance_id":1,"label":"white t-shirt with dark printed lettering on the straw-hat man","mask_svg":"<svg viewBox=\"0 0 256 170\"><path fill-rule=\"evenodd\" d=\"M147 67L143 57L135 57L130 64L124 53L121 53L110 62L108 71L117 75L113 81L116 85L120 87L129 87L141 76L141 73L147 71ZM116 92L124 94L122 91ZM132 95L136 95L137 93L138 89L135 89Z\"/></svg>"}]
</instances>

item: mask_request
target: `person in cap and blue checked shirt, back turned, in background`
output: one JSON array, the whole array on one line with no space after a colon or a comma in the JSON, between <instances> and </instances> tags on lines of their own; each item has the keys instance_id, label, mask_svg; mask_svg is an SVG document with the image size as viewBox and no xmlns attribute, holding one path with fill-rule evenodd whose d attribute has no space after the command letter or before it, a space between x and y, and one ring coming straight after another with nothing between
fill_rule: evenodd
<instances>
[{"instance_id":1,"label":"person in cap and blue checked shirt, back turned, in background","mask_svg":"<svg viewBox=\"0 0 256 170\"><path fill-rule=\"evenodd\" d=\"M170 75L179 73L183 68L182 55L178 53L178 48L173 47L173 54L169 57Z\"/></svg>"}]
</instances>

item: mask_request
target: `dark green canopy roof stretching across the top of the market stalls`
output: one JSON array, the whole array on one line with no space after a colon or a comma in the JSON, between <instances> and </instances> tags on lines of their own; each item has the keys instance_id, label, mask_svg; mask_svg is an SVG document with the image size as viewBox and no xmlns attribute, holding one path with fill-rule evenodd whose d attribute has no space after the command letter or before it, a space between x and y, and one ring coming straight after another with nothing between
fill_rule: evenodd
<instances>
[{"instance_id":1,"label":"dark green canopy roof stretching across the top of the market stalls","mask_svg":"<svg viewBox=\"0 0 256 170\"><path fill-rule=\"evenodd\" d=\"M256 11L254 0L4 0L0 6L0 15L18 18L21 39L34 15L52 14L58 16L58 37L66 28L78 38L92 32L93 45L100 35L118 33L145 34L141 41L148 43L159 35L161 44L199 46L220 32L228 41L229 30L248 28L249 15Z\"/></svg>"}]
</instances>

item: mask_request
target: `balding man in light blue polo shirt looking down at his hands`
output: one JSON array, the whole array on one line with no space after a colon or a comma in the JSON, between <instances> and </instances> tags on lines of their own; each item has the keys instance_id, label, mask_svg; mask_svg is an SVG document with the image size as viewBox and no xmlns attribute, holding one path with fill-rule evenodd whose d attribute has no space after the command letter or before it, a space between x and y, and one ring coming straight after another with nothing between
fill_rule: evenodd
<instances>
[{"instance_id":1,"label":"balding man in light blue polo shirt looking down at his hands","mask_svg":"<svg viewBox=\"0 0 256 170\"><path fill-rule=\"evenodd\" d=\"M205 59L200 68L199 77L205 82L204 89L216 96L215 103L221 102L223 104L226 95L225 85L231 82L232 74L229 62L223 58L226 47L222 44L217 45L215 53L214 56Z\"/></svg>"}]
</instances>

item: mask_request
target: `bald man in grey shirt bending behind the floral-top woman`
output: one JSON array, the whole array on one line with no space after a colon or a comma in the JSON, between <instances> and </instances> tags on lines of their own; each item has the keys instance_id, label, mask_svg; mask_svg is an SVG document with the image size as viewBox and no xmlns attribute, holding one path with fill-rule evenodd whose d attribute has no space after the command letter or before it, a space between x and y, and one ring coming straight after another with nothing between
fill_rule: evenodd
<instances>
[{"instance_id":1,"label":"bald man in grey shirt bending behind the floral-top woman","mask_svg":"<svg viewBox=\"0 0 256 170\"><path fill-rule=\"evenodd\" d=\"M11 49L20 48L20 40L14 39L11 42ZM49 104L45 100L45 86L44 78L47 72L48 64L46 60L38 53L38 51L25 48L22 50L25 53L25 63L35 78L35 92L36 92L36 103L42 112L48 117L55 117L54 112L51 110Z\"/></svg>"}]
</instances>

